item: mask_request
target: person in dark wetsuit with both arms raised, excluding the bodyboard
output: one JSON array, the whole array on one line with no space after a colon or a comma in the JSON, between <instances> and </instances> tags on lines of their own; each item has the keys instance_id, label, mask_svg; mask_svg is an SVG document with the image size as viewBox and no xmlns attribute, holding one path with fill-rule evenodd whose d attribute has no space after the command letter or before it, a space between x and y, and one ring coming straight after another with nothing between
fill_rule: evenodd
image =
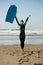
<instances>
[{"instance_id":1,"label":"person in dark wetsuit with both arms raised, excluding the bodyboard","mask_svg":"<svg viewBox=\"0 0 43 65\"><path fill-rule=\"evenodd\" d=\"M21 20L19 23L17 17L15 17L18 25L20 26L20 42L21 42L21 49L23 51L24 51L24 41L25 41L25 26L26 26L26 23L27 23L29 17L30 17L30 15L27 17L25 23L23 20Z\"/></svg>"}]
</instances>

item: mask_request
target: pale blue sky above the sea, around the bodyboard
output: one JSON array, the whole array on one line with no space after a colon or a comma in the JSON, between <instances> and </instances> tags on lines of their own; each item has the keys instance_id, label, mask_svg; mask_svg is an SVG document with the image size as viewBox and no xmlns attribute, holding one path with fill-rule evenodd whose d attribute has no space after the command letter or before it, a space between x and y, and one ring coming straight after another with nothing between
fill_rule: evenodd
<instances>
[{"instance_id":1,"label":"pale blue sky above the sea, around the bodyboard","mask_svg":"<svg viewBox=\"0 0 43 65\"><path fill-rule=\"evenodd\" d=\"M0 0L0 29L19 29L16 20L13 24L5 21L7 11L11 5L17 6L19 22L31 15L26 24L26 30L43 30L43 0Z\"/></svg>"}]
</instances>

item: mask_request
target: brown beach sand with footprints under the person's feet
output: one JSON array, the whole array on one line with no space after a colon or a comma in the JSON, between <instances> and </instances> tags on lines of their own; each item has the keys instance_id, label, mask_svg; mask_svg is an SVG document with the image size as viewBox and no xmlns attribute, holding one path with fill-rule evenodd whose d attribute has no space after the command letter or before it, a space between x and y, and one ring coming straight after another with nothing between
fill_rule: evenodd
<instances>
[{"instance_id":1,"label":"brown beach sand with footprints under the person's feet","mask_svg":"<svg viewBox=\"0 0 43 65\"><path fill-rule=\"evenodd\" d=\"M0 65L43 65L43 45L25 45L22 52L19 45L0 46Z\"/></svg>"}]
</instances>

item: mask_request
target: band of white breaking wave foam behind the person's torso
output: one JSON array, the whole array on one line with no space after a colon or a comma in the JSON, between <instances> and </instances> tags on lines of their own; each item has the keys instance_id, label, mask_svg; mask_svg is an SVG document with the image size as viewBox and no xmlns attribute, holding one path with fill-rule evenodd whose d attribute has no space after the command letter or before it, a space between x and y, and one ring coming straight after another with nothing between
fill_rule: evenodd
<instances>
[{"instance_id":1,"label":"band of white breaking wave foam behind the person's torso","mask_svg":"<svg viewBox=\"0 0 43 65\"><path fill-rule=\"evenodd\" d=\"M43 35L43 30L26 30L26 35ZM19 35L20 30L0 30L0 35Z\"/></svg>"}]
</instances>

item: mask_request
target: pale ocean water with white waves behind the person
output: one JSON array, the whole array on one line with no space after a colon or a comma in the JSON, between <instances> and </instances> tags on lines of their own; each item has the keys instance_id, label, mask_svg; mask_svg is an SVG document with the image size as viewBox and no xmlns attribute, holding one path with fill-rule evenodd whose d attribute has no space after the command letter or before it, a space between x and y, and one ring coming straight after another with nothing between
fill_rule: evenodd
<instances>
[{"instance_id":1,"label":"pale ocean water with white waves behind the person","mask_svg":"<svg viewBox=\"0 0 43 65\"><path fill-rule=\"evenodd\" d=\"M43 44L42 33L37 33L36 31L33 31L33 33L32 31L29 31L29 33L27 32L28 31L26 31L25 44ZM20 44L19 31L0 31L0 45L14 44Z\"/></svg>"}]
</instances>

